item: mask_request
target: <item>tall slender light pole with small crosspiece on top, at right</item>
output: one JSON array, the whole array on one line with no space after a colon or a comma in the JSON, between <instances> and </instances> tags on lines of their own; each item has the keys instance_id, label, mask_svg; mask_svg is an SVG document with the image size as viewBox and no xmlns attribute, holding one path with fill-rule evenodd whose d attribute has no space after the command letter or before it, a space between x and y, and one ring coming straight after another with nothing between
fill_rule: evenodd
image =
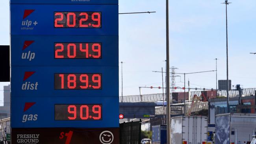
<instances>
[{"instance_id":1,"label":"tall slender light pole with small crosspiece on top, at right","mask_svg":"<svg viewBox=\"0 0 256 144\"><path fill-rule=\"evenodd\" d=\"M228 94L229 83L228 83L228 12L227 12L227 6L228 6L228 4L231 4L231 3L228 2L228 0L225 0L225 2L222 4L226 4L227 110L228 110L228 113L230 113L229 94Z\"/></svg>"}]
</instances>

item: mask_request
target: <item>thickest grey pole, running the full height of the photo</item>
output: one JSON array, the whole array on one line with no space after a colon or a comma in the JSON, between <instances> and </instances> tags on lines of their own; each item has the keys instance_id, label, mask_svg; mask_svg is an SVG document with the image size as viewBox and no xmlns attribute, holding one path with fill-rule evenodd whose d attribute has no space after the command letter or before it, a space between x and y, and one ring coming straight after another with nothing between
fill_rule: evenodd
<instances>
[{"instance_id":1,"label":"thickest grey pole, running the full height of the photo","mask_svg":"<svg viewBox=\"0 0 256 144\"><path fill-rule=\"evenodd\" d=\"M171 109L170 109L170 57L169 57L169 0L166 0L166 124L167 144L171 144Z\"/></svg>"}]
</instances>

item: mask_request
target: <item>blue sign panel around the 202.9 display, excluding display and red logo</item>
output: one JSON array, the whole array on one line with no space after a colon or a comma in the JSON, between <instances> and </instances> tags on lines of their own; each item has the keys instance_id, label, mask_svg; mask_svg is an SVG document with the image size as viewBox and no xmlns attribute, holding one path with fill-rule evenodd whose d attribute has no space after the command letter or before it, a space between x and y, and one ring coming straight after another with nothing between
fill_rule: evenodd
<instances>
[{"instance_id":1,"label":"blue sign panel around the 202.9 display, excluding display and red logo","mask_svg":"<svg viewBox=\"0 0 256 144\"><path fill-rule=\"evenodd\" d=\"M118 35L118 5L12 4L10 7L11 35ZM24 18L25 10L34 11ZM56 11L101 12L102 27L54 28Z\"/></svg>"}]
</instances>

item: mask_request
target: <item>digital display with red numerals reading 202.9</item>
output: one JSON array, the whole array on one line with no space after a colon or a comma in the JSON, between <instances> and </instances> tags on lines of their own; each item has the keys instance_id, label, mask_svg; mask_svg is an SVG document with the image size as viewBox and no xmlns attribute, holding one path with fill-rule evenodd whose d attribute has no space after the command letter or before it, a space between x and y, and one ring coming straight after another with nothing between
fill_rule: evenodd
<instances>
[{"instance_id":1,"label":"digital display with red numerals reading 202.9","mask_svg":"<svg viewBox=\"0 0 256 144\"><path fill-rule=\"evenodd\" d=\"M101 28L101 12L54 12L54 28Z\"/></svg>"}]
</instances>

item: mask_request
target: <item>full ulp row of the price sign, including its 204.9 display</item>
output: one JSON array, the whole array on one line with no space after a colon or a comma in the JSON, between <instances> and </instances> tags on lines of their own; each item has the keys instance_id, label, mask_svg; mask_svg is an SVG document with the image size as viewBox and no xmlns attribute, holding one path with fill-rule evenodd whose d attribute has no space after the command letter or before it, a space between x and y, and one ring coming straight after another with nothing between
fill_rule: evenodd
<instances>
[{"instance_id":1,"label":"full ulp row of the price sign, including its 204.9 display","mask_svg":"<svg viewBox=\"0 0 256 144\"><path fill-rule=\"evenodd\" d=\"M12 35L13 66L118 66L118 36Z\"/></svg>"}]
</instances>

